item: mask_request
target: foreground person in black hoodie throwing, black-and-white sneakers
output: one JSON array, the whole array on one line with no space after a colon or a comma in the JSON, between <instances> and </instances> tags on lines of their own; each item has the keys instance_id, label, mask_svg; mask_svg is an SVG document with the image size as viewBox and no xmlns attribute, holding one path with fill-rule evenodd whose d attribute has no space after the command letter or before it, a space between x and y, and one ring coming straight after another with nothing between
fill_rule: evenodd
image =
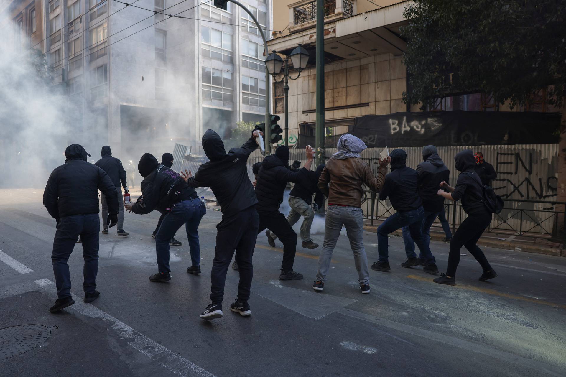
<instances>
[{"instance_id":1,"label":"foreground person in black hoodie throwing, black-and-white sneakers","mask_svg":"<svg viewBox=\"0 0 566 377\"><path fill-rule=\"evenodd\" d=\"M254 187L247 174L247 159L258 148L255 139L263 135L258 128L241 148L231 148L228 153L220 135L208 130L203 135L203 149L210 161L200 165L194 177L183 174L189 187L210 187L222 211L222 221L216 225L216 249L211 271L211 303L200 318L222 318L224 285L230 260L236 252L240 281L238 298L230 310L240 315L250 315L250 288L254 277L252 255L258 237L259 217L254 205L258 203ZM187 269L187 272L188 271Z\"/></svg>"}]
</instances>

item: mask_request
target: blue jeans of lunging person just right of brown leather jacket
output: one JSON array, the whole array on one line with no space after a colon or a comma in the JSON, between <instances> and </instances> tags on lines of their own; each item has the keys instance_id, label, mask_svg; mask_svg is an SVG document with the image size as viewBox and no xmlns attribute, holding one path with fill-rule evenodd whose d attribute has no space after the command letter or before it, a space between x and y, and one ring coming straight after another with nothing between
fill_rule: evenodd
<instances>
[{"instance_id":1,"label":"blue jeans of lunging person just right of brown leather jacket","mask_svg":"<svg viewBox=\"0 0 566 377\"><path fill-rule=\"evenodd\" d=\"M387 243L387 235L395 232L397 229L401 229L404 226L409 226L409 232L411 237L417 243L419 250L421 250L422 255L427 263L434 263L435 258L430 252L430 247L425 241L422 234L422 222L424 219L424 209L419 207L413 209L412 211L398 211L392 216L389 216L378 228L378 252L379 252L379 262L388 262L389 260L389 249ZM407 258L414 258L415 253L411 254L409 251L405 250Z\"/></svg>"}]
</instances>

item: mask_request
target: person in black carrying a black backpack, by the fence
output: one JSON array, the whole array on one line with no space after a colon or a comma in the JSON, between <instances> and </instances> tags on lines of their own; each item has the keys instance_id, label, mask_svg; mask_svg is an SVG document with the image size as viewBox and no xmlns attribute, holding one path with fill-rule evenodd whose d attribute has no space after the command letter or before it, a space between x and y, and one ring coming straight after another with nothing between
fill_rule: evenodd
<instances>
[{"instance_id":1,"label":"person in black carrying a black backpack, by the fence","mask_svg":"<svg viewBox=\"0 0 566 377\"><path fill-rule=\"evenodd\" d=\"M450 241L446 273L442 273L440 277L434 279L434 282L456 285L456 268L458 263L460 263L460 249L462 249L462 246L468 249L470 254L474 256L483 268L479 281L493 279L497 276L497 273L490 263L487 262L487 258L483 251L479 249L477 242L483 231L490 225L494 209L492 209L489 203L486 203L482 181L474 170L474 152L471 149L465 149L454 156L454 161L456 161L456 170L460 172L456 187L449 186L446 182L441 182L438 195L454 202L462 200L462 208L468 217L462 221L462 224L460 224ZM495 212L497 211L498 209L495 209Z\"/></svg>"}]
</instances>

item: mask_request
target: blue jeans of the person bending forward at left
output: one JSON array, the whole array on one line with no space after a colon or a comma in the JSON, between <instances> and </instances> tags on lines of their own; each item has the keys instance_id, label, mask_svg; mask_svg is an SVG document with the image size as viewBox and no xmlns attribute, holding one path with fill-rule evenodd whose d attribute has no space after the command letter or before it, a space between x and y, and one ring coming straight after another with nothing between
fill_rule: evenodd
<instances>
[{"instance_id":1,"label":"blue jeans of the person bending forward at left","mask_svg":"<svg viewBox=\"0 0 566 377\"><path fill-rule=\"evenodd\" d=\"M200 265L199 224L200 219L207 213L207 208L199 198L187 199L176 203L171 211L166 213L161 226L155 234L155 249L159 272L171 272L169 269L169 240L177 230L185 224L187 229L188 247L191 250L192 265Z\"/></svg>"}]
</instances>

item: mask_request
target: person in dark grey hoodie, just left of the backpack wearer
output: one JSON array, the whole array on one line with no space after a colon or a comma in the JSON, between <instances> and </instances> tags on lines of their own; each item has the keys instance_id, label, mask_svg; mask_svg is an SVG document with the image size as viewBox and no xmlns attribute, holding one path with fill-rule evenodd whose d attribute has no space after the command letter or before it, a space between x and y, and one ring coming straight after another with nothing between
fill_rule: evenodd
<instances>
[{"instance_id":1,"label":"person in dark grey hoodie, just left of the backpack wearer","mask_svg":"<svg viewBox=\"0 0 566 377\"><path fill-rule=\"evenodd\" d=\"M436 195L440 182L448 182L450 170L444 165L444 161L438 155L438 149L434 145L427 145L422 151L423 162L417 166L418 174L418 193L422 200L424 209L424 220L422 233L424 241L430 245L430 227L438 217L440 212L444 212L444 198ZM415 243L411 238L409 226L403 227L403 241L405 242L405 252L413 255ZM409 259L405 267L424 265L423 255L419 258Z\"/></svg>"}]
</instances>

